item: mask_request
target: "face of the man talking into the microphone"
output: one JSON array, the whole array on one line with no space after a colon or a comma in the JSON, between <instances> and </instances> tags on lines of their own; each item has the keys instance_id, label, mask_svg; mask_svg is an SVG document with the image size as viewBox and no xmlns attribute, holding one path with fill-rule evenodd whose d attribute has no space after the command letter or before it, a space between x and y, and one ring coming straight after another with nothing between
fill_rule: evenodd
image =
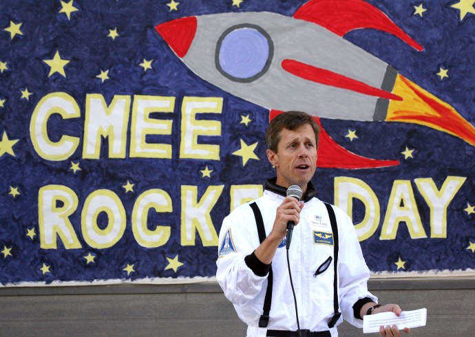
<instances>
[{"instance_id":1,"label":"face of the man talking into the microphone","mask_svg":"<svg viewBox=\"0 0 475 337\"><path fill-rule=\"evenodd\" d=\"M282 129L277 153L267 150L269 162L277 171L277 185L299 185L305 192L317 166L315 133L310 124L294 131Z\"/></svg>"}]
</instances>

